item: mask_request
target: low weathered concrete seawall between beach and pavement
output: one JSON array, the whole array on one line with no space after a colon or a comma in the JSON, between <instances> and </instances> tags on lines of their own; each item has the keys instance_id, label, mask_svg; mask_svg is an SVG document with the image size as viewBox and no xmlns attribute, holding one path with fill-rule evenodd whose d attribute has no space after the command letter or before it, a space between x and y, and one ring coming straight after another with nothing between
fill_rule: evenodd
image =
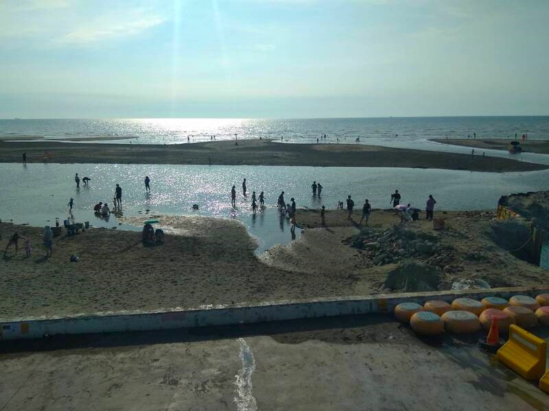
<instances>
[{"instance_id":1,"label":"low weathered concrete seawall between beach and pavement","mask_svg":"<svg viewBox=\"0 0 549 411\"><path fill-rule=\"evenodd\" d=\"M406 301L422 304L431 299L451 302L453 299L460 297L480 300L489 296L509 299L513 295L535 297L546 292L549 292L549 286L412 292L323 298L310 301L269 301L255 304L243 303L234 306L203 306L200 308L174 308L147 312L82 314L49 319L0 319L0 340L43 338L59 334L210 327L348 314L387 313L393 312L397 304Z\"/></svg>"}]
</instances>

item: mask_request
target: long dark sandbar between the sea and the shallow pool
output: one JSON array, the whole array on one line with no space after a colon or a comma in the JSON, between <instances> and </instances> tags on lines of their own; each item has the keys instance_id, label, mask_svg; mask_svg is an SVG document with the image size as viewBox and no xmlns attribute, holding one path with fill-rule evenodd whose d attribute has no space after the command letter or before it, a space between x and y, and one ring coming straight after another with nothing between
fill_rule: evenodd
<instances>
[{"instance_id":1,"label":"long dark sandbar between the sea and the shallow pool","mask_svg":"<svg viewBox=\"0 0 549 411\"><path fill-rule=\"evenodd\" d=\"M280 144L269 140L239 140L238 145L234 141L181 145L0 141L0 162L21 162L23 152L27 162L54 163L408 167L487 172L549 168L505 158L371 145Z\"/></svg>"}]
</instances>

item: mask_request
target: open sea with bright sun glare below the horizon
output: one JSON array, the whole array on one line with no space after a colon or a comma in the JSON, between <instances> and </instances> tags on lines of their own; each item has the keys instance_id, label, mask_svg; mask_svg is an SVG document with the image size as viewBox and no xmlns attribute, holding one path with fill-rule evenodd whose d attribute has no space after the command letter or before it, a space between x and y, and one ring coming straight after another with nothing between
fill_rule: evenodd
<instances>
[{"instance_id":1,"label":"open sea with bright sun glare below the horizon","mask_svg":"<svg viewBox=\"0 0 549 411\"><path fill-rule=\"evenodd\" d=\"M426 138L506 138L528 134L549 139L549 116L391 117L382 119L10 119L0 136L54 140L108 138L104 142L176 144L235 138L276 138L288 142L391 142Z\"/></svg>"}]
</instances>

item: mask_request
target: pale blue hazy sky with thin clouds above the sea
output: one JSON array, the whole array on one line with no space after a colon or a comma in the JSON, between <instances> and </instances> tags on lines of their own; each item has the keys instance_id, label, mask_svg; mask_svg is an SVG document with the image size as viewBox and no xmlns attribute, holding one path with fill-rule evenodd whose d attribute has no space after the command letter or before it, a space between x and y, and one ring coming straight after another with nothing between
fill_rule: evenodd
<instances>
[{"instance_id":1,"label":"pale blue hazy sky with thin clouds above the sea","mask_svg":"<svg viewBox=\"0 0 549 411\"><path fill-rule=\"evenodd\" d=\"M549 114L547 0L0 0L0 118Z\"/></svg>"}]
</instances>

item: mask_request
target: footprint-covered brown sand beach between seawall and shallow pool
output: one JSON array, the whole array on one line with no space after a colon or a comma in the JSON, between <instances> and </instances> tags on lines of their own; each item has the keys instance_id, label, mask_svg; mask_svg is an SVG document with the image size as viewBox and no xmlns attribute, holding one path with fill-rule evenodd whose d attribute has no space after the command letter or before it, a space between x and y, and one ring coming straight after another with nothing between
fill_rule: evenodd
<instances>
[{"instance_id":1,"label":"footprint-covered brown sand beach between seawall and shallow pool","mask_svg":"<svg viewBox=\"0 0 549 411\"><path fill-rule=\"evenodd\" d=\"M428 221L408 224L454 248L455 270L443 275L441 289L463 278L525 286L546 277L546 271L517 260L483 234L493 213L441 215L448 219L444 232L434 232ZM139 232L89 229L63 235L54 238L54 256L47 260L41 258L41 229L3 223L2 247L17 231L32 239L34 255L25 258L21 244L17 256L12 250L0 260L0 319L382 292L397 264L373 266L364 250L350 247L349 237L360 229L345 217L342 210L328 210L327 226L320 227L318 210L299 210L297 221L305 227L301 237L259 258L245 227L224 219L162 217L172 227L167 232L177 234L167 234L165 244L156 247L143 247ZM358 212L353 220L360 220ZM370 225L382 229L397 222L394 212L375 210ZM471 250L485 258L467 260ZM79 262L69 262L73 253Z\"/></svg>"}]
</instances>

